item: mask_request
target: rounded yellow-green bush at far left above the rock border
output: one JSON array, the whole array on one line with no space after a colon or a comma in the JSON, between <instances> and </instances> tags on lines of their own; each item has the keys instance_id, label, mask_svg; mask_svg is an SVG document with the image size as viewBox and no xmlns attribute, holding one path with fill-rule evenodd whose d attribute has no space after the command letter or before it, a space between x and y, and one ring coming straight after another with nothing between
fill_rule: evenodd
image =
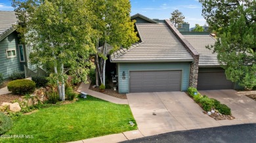
<instances>
[{"instance_id":1,"label":"rounded yellow-green bush at far left above the rock border","mask_svg":"<svg viewBox=\"0 0 256 143\"><path fill-rule=\"evenodd\" d=\"M16 95L26 95L35 91L35 82L32 80L13 80L7 84L9 91Z\"/></svg>"}]
</instances>

